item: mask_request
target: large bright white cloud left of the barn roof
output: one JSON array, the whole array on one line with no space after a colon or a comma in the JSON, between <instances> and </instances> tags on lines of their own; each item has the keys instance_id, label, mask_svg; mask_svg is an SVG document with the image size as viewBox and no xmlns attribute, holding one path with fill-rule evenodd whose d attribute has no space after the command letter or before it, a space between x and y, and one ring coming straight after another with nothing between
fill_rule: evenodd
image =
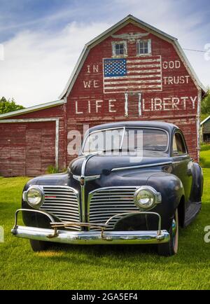
<instances>
[{"instance_id":1,"label":"large bright white cloud left of the barn roof","mask_svg":"<svg viewBox=\"0 0 210 304\"><path fill-rule=\"evenodd\" d=\"M109 25L72 22L61 32L21 32L4 43L0 95L24 106L56 100L85 43Z\"/></svg>"}]
</instances>

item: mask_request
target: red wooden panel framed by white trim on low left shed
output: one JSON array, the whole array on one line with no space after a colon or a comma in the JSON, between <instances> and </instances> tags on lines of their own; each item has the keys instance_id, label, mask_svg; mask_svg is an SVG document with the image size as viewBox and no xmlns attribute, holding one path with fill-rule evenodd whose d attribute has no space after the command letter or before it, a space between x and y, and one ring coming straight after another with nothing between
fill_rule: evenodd
<instances>
[{"instance_id":1,"label":"red wooden panel framed by white trim on low left shed","mask_svg":"<svg viewBox=\"0 0 210 304\"><path fill-rule=\"evenodd\" d=\"M0 174L4 177L45 174L55 165L55 122L0 124Z\"/></svg>"}]
</instances>

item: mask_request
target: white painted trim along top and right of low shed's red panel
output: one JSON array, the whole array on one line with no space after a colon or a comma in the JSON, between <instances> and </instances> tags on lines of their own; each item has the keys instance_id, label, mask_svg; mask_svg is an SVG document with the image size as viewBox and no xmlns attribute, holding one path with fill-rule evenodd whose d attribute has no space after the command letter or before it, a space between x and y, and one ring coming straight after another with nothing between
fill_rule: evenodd
<instances>
[{"instance_id":1,"label":"white painted trim along top and right of low shed's red panel","mask_svg":"<svg viewBox=\"0 0 210 304\"><path fill-rule=\"evenodd\" d=\"M22 119L2 119L0 123L43 123L55 121L55 167L58 167L59 155L59 118L22 118Z\"/></svg>"}]
</instances>

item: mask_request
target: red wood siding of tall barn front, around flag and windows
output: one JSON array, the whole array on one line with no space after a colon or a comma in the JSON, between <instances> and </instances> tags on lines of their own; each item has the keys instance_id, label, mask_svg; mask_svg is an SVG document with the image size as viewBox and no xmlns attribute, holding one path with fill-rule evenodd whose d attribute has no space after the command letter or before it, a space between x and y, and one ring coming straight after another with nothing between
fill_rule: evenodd
<instances>
[{"instance_id":1,"label":"red wood siding of tall barn front, around flag and windows","mask_svg":"<svg viewBox=\"0 0 210 304\"><path fill-rule=\"evenodd\" d=\"M139 32L146 33L144 29L130 23L114 34ZM67 97L67 130L76 129L81 132L83 123L91 127L117 120L164 120L181 127L190 155L197 160L198 89L172 43L153 34L148 34L146 39L151 39L152 56L161 57L162 90L140 90L141 116L137 95L128 97L128 116L125 117L125 93L104 93L103 59L112 58L112 41L126 40L109 36L90 50ZM136 43L127 40L127 58L131 57L137 57L137 47ZM148 55L141 57L149 58ZM72 156L68 156L68 160L71 159Z\"/></svg>"}]
</instances>

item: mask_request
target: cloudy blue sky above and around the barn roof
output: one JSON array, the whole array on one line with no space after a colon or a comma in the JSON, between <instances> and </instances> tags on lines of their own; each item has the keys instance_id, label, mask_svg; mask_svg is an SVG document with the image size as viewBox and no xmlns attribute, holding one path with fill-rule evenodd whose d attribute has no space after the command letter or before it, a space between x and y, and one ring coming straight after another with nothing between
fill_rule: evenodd
<instances>
[{"instance_id":1,"label":"cloudy blue sky above and around the barn roof","mask_svg":"<svg viewBox=\"0 0 210 304\"><path fill-rule=\"evenodd\" d=\"M210 86L208 0L0 0L0 97L57 100L85 43L129 14L200 50L184 51Z\"/></svg>"}]
</instances>

